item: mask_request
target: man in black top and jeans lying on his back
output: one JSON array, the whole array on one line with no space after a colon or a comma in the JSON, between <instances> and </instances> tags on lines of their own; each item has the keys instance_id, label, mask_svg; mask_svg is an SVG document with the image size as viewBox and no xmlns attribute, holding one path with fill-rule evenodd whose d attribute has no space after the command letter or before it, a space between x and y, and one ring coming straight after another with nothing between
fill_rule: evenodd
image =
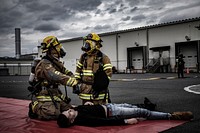
<instances>
[{"instance_id":1,"label":"man in black top and jeans lying on his back","mask_svg":"<svg viewBox=\"0 0 200 133\"><path fill-rule=\"evenodd\" d=\"M80 126L115 126L136 124L140 118L149 120L191 120L193 114L187 112L164 113L138 108L131 104L80 105L62 112L57 119L61 128Z\"/></svg>"}]
</instances>

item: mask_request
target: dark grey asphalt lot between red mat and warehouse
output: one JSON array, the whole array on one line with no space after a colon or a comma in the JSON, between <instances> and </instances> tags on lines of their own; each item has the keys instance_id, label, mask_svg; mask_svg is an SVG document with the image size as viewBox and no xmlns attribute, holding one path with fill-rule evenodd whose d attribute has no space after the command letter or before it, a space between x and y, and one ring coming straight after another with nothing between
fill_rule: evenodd
<instances>
[{"instance_id":1,"label":"dark grey asphalt lot between red mat and warehouse","mask_svg":"<svg viewBox=\"0 0 200 133\"><path fill-rule=\"evenodd\" d=\"M194 120L163 133L199 133L200 95L193 93L200 90L199 84L199 73L185 74L185 78L180 79L176 73L113 74L109 89L113 103L143 103L147 97L157 104L158 111L192 111ZM194 85L191 92L184 90ZM0 76L0 97L30 100L28 86L28 76ZM64 87L61 86L61 90L65 93ZM71 87L67 87L67 93L72 104L81 104Z\"/></svg>"}]
</instances>

